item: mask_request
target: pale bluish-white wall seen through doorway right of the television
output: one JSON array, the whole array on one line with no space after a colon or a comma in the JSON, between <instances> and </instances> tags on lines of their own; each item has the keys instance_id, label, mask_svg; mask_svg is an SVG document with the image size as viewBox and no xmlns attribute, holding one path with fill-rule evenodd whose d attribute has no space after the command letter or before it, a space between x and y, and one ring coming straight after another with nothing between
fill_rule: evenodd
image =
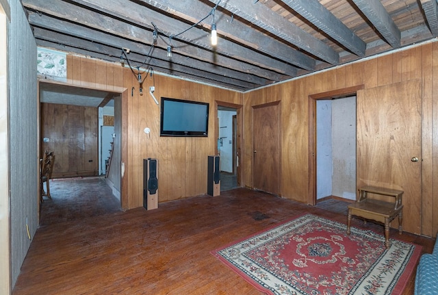
<instances>
[{"instance_id":1,"label":"pale bluish-white wall seen through doorway right of the television","mask_svg":"<svg viewBox=\"0 0 438 295\"><path fill-rule=\"evenodd\" d=\"M222 138L222 146L218 141L218 151L220 151L220 170L233 172L233 116L235 111L218 110L220 122L219 138Z\"/></svg>"}]
</instances>

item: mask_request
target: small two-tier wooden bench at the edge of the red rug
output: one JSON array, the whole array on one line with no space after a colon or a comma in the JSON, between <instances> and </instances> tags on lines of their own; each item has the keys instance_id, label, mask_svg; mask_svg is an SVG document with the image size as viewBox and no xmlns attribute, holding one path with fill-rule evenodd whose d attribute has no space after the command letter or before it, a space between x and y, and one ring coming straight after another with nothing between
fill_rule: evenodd
<instances>
[{"instance_id":1,"label":"small two-tier wooden bench at the edge of the red rug","mask_svg":"<svg viewBox=\"0 0 438 295\"><path fill-rule=\"evenodd\" d=\"M370 198L368 194L394 197L394 202ZM398 233L402 233L402 190L391 190L375 186L359 188L359 201L348 205L347 235L350 235L351 216L382 222L385 225L385 246L389 248L389 226L391 220L398 216Z\"/></svg>"}]
</instances>

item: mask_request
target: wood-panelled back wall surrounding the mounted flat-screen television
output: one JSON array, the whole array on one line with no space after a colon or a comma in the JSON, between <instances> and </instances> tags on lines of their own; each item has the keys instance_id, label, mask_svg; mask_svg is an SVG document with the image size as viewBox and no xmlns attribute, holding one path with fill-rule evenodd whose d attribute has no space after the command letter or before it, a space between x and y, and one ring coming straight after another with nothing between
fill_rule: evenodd
<instances>
[{"instance_id":1,"label":"wood-panelled back wall surrounding the mounted flat-screen television","mask_svg":"<svg viewBox=\"0 0 438 295\"><path fill-rule=\"evenodd\" d=\"M171 97L210 103L208 138L172 138L159 136L159 105L146 91L153 85L152 79L146 79L144 94L140 96L138 79L129 68L68 55L67 80L68 84L101 90L118 91L123 88L120 162L125 165L121 183L122 194L126 196L122 203L124 209L142 206L143 159L148 157L159 161L159 202L207 192L207 156L214 155L216 151L214 103L242 104L244 94L155 75L154 94L157 99ZM150 134L144 133L145 127L151 129Z\"/></svg>"}]
</instances>

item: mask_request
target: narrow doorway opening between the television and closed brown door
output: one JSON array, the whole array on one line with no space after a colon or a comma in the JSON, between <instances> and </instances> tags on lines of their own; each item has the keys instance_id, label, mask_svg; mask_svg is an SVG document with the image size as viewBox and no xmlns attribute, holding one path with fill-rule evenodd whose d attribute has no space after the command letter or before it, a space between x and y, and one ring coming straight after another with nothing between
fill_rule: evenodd
<instances>
[{"instance_id":1,"label":"narrow doorway opening between the television and closed brown door","mask_svg":"<svg viewBox=\"0 0 438 295\"><path fill-rule=\"evenodd\" d=\"M240 188L240 105L218 103L217 155L220 156L220 190Z\"/></svg>"}]
</instances>

